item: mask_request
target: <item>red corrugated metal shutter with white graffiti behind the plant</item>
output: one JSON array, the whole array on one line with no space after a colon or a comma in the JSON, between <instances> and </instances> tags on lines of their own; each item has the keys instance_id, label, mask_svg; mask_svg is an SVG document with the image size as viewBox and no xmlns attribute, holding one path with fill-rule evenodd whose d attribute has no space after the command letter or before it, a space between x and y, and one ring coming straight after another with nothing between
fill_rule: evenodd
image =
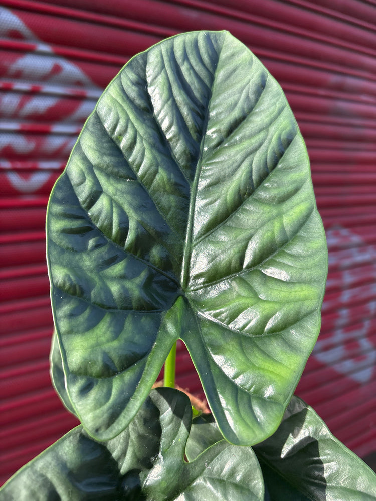
<instances>
[{"instance_id":1,"label":"red corrugated metal shutter with white graffiti behind the plant","mask_svg":"<svg viewBox=\"0 0 376 501\"><path fill-rule=\"evenodd\" d=\"M102 89L175 33L227 29L281 83L329 246L322 332L297 393L376 450L376 8L360 0L3 0L0 7L1 480L75 425L50 384L44 220ZM200 392L183 346L178 383Z\"/></svg>"}]
</instances>

